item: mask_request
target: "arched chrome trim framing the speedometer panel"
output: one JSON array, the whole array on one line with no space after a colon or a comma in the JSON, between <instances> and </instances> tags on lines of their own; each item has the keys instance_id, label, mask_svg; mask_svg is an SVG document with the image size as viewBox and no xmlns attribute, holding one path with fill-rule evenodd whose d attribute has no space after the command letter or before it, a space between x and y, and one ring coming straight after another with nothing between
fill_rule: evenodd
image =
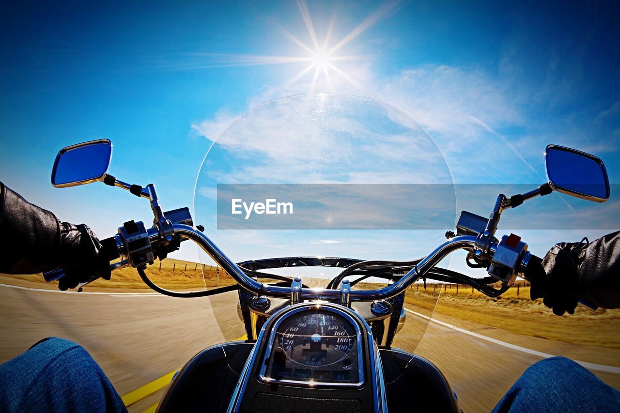
<instances>
[{"instance_id":1,"label":"arched chrome trim framing the speedometer panel","mask_svg":"<svg viewBox=\"0 0 620 413\"><path fill-rule=\"evenodd\" d=\"M293 384L296 386L302 386L302 387L307 387L307 388L319 388L319 387L360 388L364 385L364 383L366 383L365 375L364 375L364 363L363 363L364 362L363 347L362 347L363 341L362 341L362 336L361 336L362 332L360 328L360 325L363 325L363 324L361 324L360 319L357 317L355 313L353 313L353 311L348 311L342 306L338 306L336 304L332 304L332 303L320 303L319 304L319 303L316 303L316 301L315 302L311 301L309 303L301 303L293 307L288 307L286 308L286 310L287 311L285 311L284 313L278 315L278 318L275 319L276 321L271 327L268 342L265 347L265 353L263 355L262 362L261 362L261 367L260 367L260 372L259 372L260 381L262 381L263 383ZM280 326L280 324L282 324L283 321L290 318L294 314L302 313L308 310L321 310L321 311L327 311L327 312L330 311L332 313L337 313L343 318L347 319L347 321L349 321L351 324L353 324L353 327L355 327L355 339L357 341L356 342L357 370L358 370L358 382L357 383L331 383L331 382L326 382L326 381L310 382L310 381L301 381L301 380L275 380L273 378L265 376L265 373L267 373L267 364L266 364L267 358L269 358L271 355L271 350L273 348L273 340L275 339L275 335L278 332L278 327ZM367 328L368 326L366 325L364 327ZM367 330L367 331L370 332L370 330ZM369 345L371 345L370 342L369 342Z\"/></svg>"}]
</instances>

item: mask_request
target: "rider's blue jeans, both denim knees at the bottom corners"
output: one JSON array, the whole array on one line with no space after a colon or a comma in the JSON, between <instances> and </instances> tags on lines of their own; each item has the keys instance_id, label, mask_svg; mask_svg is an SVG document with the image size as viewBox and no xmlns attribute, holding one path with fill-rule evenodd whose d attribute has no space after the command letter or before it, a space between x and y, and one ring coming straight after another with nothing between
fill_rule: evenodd
<instances>
[{"instance_id":1,"label":"rider's blue jeans, both denim knees at the bottom corners","mask_svg":"<svg viewBox=\"0 0 620 413\"><path fill-rule=\"evenodd\" d=\"M126 412L112 383L78 344L51 338L0 366L1 412ZM552 357L530 366L494 412L620 412L620 392Z\"/></svg>"}]
</instances>

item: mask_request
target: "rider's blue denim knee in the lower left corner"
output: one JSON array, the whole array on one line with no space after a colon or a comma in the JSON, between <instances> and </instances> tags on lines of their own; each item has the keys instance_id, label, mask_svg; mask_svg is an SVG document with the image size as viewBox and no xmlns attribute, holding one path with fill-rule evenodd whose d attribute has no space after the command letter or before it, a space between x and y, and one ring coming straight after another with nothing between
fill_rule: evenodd
<instances>
[{"instance_id":1,"label":"rider's blue denim knee in the lower left corner","mask_svg":"<svg viewBox=\"0 0 620 413\"><path fill-rule=\"evenodd\" d=\"M0 365L2 412L126 412L81 345L52 337Z\"/></svg>"}]
</instances>

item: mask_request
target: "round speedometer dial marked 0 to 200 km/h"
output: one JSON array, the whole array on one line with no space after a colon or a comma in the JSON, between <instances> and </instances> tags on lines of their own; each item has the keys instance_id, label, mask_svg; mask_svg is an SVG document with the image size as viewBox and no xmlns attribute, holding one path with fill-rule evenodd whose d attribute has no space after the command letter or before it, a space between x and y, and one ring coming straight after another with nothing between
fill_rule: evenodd
<instances>
[{"instance_id":1,"label":"round speedometer dial marked 0 to 200 km/h","mask_svg":"<svg viewBox=\"0 0 620 413\"><path fill-rule=\"evenodd\" d=\"M291 317L278 328L286 357L304 366L327 366L346 358L355 345L353 326L329 313Z\"/></svg>"}]
</instances>

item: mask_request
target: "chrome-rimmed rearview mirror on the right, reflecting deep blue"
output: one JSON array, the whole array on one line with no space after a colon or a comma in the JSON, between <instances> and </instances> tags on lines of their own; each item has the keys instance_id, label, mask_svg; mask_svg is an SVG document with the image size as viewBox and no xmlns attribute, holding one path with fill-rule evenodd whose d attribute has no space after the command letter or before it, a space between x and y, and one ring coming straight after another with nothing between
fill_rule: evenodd
<instances>
[{"instance_id":1,"label":"chrome-rimmed rearview mirror on the right, reflecting deep blue","mask_svg":"<svg viewBox=\"0 0 620 413\"><path fill-rule=\"evenodd\" d=\"M576 149L549 145L545 162L553 189L590 201L608 200L609 179L601 159Z\"/></svg>"}]
</instances>

